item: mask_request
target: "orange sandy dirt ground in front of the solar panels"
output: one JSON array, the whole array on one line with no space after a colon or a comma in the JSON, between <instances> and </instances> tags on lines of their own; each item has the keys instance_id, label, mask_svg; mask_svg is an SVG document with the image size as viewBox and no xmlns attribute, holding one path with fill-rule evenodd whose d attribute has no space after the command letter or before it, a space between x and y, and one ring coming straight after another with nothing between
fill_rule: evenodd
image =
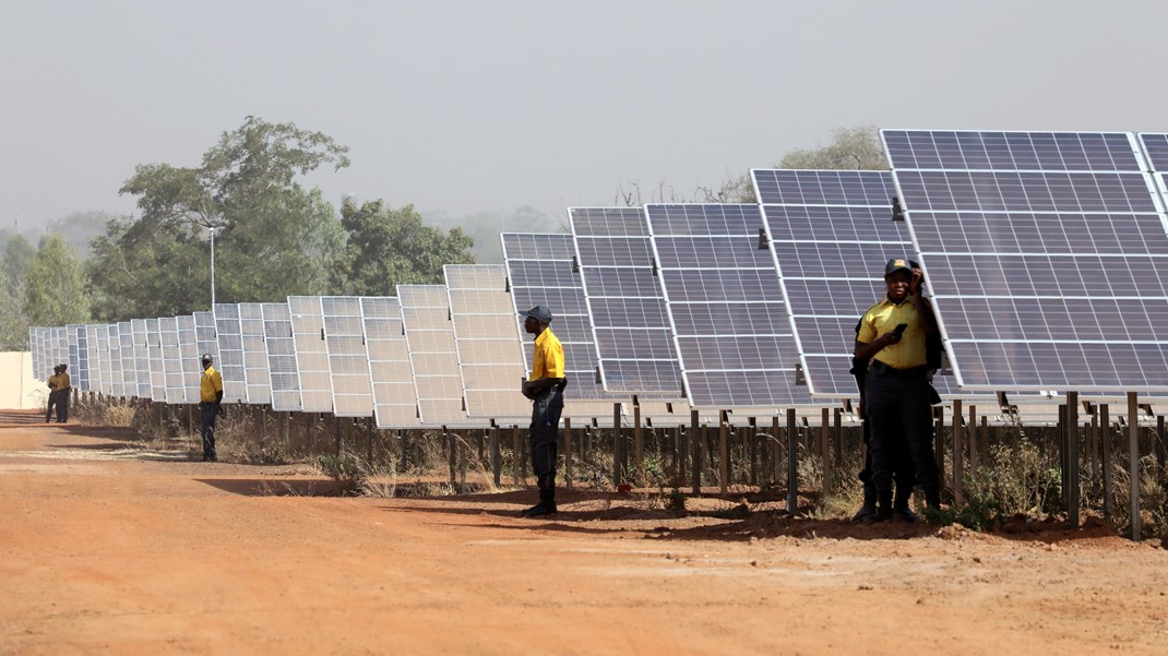
<instances>
[{"instance_id":1,"label":"orange sandy dirt ground in front of the solar panels","mask_svg":"<svg viewBox=\"0 0 1168 656\"><path fill-rule=\"evenodd\" d=\"M1168 551L1098 522L987 536L582 493L529 521L531 491L304 496L326 483L124 437L0 412L0 654L1168 652Z\"/></svg>"}]
</instances>

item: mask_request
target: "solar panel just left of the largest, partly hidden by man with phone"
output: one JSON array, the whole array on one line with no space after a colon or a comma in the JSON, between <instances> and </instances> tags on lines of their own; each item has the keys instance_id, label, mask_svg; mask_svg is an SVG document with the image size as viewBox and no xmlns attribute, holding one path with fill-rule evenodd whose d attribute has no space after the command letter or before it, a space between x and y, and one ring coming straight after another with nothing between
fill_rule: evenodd
<instances>
[{"instance_id":1,"label":"solar panel just left of the largest, partly hidden by man with phone","mask_svg":"<svg viewBox=\"0 0 1168 656\"><path fill-rule=\"evenodd\" d=\"M857 396L860 316L884 295L884 263L911 257L883 170L751 170L799 361L813 396Z\"/></svg>"}]
</instances>

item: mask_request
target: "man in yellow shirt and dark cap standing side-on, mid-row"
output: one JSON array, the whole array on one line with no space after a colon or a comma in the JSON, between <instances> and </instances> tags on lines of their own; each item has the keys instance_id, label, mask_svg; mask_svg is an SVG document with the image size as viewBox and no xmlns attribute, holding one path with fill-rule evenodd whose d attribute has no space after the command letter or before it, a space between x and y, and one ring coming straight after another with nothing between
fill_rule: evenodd
<instances>
[{"instance_id":1,"label":"man in yellow shirt and dark cap standing side-on, mid-row","mask_svg":"<svg viewBox=\"0 0 1168 656\"><path fill-rule=\"evenodd\" d=\"M524 517L551 515L556 511L556 435L559 413L564 410L564 347L548 326L551 310L537 305L527 310L523 329L535 335L531 377L523 383L523 396L535 402L528 440L531 469L540 486L540 503L523 510Z\"/></svg>"}]
</instances>

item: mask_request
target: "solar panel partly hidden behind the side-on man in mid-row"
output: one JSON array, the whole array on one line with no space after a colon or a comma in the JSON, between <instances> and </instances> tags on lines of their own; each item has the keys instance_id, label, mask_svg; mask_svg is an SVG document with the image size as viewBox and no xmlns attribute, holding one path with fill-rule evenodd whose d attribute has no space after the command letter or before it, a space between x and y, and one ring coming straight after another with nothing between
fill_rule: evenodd
<instances>
[{"instance_id":1,"label":"solar panel partly hidden behind the side-on man in mid-row","mask_svg":"<svg viewBox=\"0 0 1168 656\"><path fill-rule=\"evenodd\" d=\"M571 235L503 233L503 261L510 282L523 365L531 371L531 335L523 330L522 313L544 305L551 309L551 332L564 346L568 388L564 417L600 418L612 414L612 400L596 381L596 343L579 272L573 266Z\"/></svg>"}]
</instances>

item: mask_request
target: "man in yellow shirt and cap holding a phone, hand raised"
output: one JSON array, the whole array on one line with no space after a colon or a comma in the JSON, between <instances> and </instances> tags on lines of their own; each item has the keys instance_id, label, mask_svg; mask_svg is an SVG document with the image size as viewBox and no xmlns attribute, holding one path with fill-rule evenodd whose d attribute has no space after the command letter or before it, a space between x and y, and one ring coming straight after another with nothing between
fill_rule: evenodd
<instances>
[{"instance_id":1,"label":"man in yellow shirt and cap holding a phone, hand raised","mask_svg":"<svg viewBox=\"0 0 1168 656\"><path fill-rule=\"evenodd\" d=\"M885 296L868 308L856 335L854 355L869 362L864 411L871 423L874 522L894 515L916 518L909 510L908 484L898 486L895 503L892 498L894 473L908 469L909 463L925 502L934 508L940 503L930 434L930 405L936 392L929 384L925 348L926 336L937 333L937 321L922 293L923 280L923 272L915 271L911 260L889 260L884 265Z\"/></svg>"}]
</instances>

